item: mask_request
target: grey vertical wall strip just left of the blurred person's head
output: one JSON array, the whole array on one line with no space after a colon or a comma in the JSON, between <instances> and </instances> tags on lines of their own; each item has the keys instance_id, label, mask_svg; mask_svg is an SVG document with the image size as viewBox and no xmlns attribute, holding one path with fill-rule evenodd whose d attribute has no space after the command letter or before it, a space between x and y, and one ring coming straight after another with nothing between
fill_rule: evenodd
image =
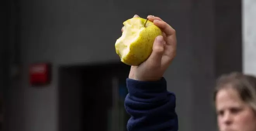
<instances>
[{"instance_id":1,"label":"grey vertical wall strip just left of the blurred person's head","mask_svg":"<svg viewBox=\"0 0 256 131\"><path fill-rule=\"evenodd\" d=\"M216 131L211 101L215 81L214 0L192 0L190 37L192 49L192 130Z\"/></svg>"}]
</instances>

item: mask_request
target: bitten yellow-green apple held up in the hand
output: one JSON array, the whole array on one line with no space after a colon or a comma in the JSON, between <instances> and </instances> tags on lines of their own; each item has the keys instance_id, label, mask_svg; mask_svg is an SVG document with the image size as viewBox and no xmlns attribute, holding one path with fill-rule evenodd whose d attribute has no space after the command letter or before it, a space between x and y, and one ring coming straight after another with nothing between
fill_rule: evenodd
<instances>
[{"instance_id":1,"label":"bitten yellow-green apple held up in the hand","mask_svg":"<svg viewBox=\"0 0 256 131\"><path fill-rule=\"evenodd\" d=\"M134 17L123 22L124 30L122 36L126 30L129 30L128 28L137 27L139 30L137 34L135 32L135 36L128 38L132 39L130 41L126 39L125 42L121 37L116 40L116 53L119 55L121 62L130 66L139 66L149 58L152 53L154 40L158 35L162 35L162 31L149 20L144 27L145 22L146 19L138 17ZM127 50L129 50L128 53L124 53L125 51L127 52Z\"/></svg>"}]
</instances>

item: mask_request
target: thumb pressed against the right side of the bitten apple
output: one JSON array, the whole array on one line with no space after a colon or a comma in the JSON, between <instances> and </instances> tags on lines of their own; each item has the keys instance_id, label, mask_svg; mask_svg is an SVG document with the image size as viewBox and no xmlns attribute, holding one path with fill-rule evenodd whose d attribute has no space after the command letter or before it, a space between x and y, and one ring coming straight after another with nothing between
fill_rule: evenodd
<instances>
[{"instance_id":1,"label":"thumb pressed against the right side of the bitten apple","mask_svg":"<svg viewBox=\"0 0 256 131\"><path fill-rule=\"evenodd\" d=\"M154 41L152 54L149 56L148 60L152 64L160 64L163 53L164 53L164 38L162 35L159 35L156 37Z\"/></svg>"}]
</instances>

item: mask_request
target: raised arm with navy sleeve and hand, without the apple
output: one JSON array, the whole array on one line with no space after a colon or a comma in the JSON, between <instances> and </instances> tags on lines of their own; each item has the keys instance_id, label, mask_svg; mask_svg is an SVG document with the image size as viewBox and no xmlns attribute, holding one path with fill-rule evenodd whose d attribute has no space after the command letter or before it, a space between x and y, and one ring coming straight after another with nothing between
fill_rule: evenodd
<instances>
[{"instance_id":1,"label":"raised arm with navy sleeve and hand, without the apple","mask_svg":"<svg viewBox=\"0 0 256 131\"><path fill-rule=\"evenodd\" d=\"M134 17L139 17L135 15ZM131 115L128 131L178 131L176 97L167 91L164 72L176 55L176 32L159 17L147 17L163 31L157 36L150 57L131 66L126 79L125 109ZM123 31L123 28L122 28Z\"/></svg>"}]
</instances>

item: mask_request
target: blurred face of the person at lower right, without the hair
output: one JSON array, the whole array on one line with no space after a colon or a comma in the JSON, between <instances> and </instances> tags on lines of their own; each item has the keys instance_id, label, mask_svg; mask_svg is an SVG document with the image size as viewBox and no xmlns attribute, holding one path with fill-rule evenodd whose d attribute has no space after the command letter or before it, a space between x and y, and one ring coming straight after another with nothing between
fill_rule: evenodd
<instances>
[{"instance_id":1,"label":"blurred face of the person at lower right, without the hair","mask_svg":"<svg viewBox=\"0 0 256 131\"><path fill-rule=\"evenodd\" d=\"M221 89L215 104L220 131L256 131L255 113L235 89Z\"/></svg>"}]
</instances>

